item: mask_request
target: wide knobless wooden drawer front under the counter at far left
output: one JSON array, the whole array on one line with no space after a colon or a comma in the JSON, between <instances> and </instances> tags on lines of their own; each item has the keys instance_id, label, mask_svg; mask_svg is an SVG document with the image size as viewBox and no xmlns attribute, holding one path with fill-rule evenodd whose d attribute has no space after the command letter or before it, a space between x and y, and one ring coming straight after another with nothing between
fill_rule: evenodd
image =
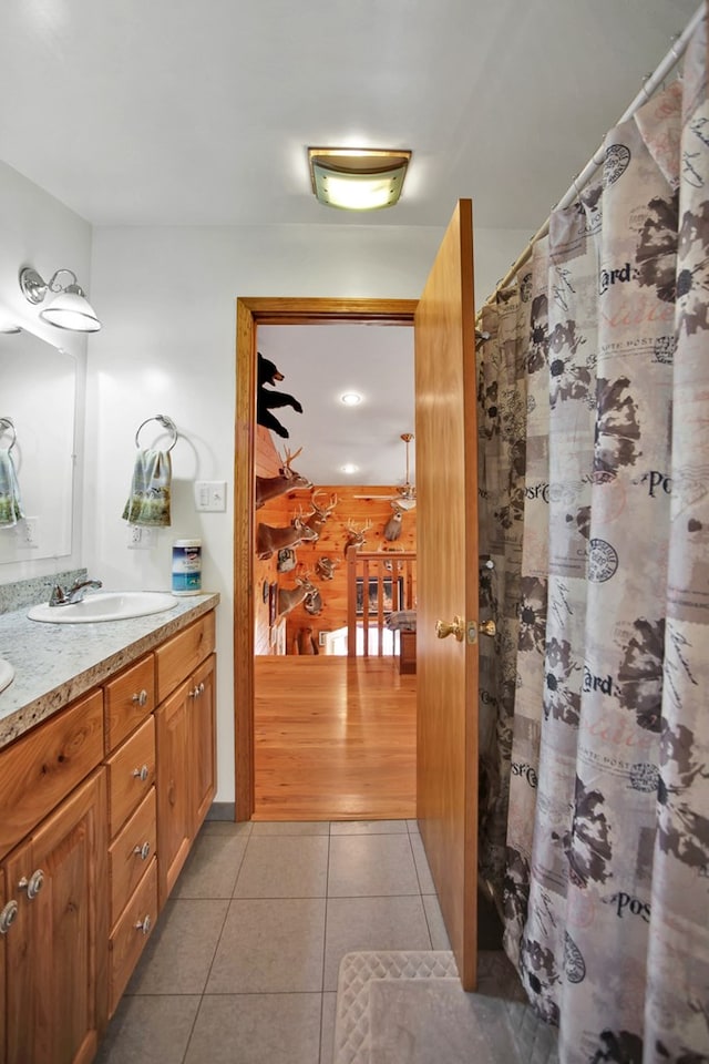
<instances>
[{"instance_id":1,"label":"wide knobless wooden drawer front under the counter at far left","mask_svg":"<svg viewBox=\"0 0 709 1064\"><path fill-rule=\"evenodd\" d=\"M0 751L0 857L48 816L103 757L95 690Z\"/></svg>"}]
</instances>

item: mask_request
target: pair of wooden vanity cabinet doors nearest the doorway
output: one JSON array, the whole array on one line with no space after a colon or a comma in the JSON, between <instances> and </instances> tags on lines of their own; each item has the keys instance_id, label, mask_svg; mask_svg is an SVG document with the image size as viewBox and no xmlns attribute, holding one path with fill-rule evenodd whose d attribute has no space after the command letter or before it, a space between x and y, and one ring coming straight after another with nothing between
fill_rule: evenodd
<instances>
[{"instance_id":1,"label":"pair of wooden vanity cabinet doors nearest the doorway","mask_svg":"<svg viewBox=\"0 0 709 1064\"><path fill-rule=\"evenodd\" d=\"M214 678L210 654L155 712L161 909L216 789Z\"/></svg>"}]
</instances>

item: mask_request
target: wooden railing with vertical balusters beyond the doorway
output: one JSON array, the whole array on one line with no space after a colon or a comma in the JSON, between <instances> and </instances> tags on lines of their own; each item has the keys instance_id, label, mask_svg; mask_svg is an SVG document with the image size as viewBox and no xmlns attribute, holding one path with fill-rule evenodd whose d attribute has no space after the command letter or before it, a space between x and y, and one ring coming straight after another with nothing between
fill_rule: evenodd
<instances>
[{"instance_id":1,"label":"wooden railing with vertical balusters beyond the doorway","mask_svg":"<svg viewBox=\"0 0 709 1064\"><path fill-rule=\"evenodd\" d=\"M361 626L363 655L369 655L370 632L376 631L377 655L381 657L389 614L415 608L415 552L369 552L350 546L346 560L347 656L357 656L357 630Z\"/></svg>"}]
</instances>

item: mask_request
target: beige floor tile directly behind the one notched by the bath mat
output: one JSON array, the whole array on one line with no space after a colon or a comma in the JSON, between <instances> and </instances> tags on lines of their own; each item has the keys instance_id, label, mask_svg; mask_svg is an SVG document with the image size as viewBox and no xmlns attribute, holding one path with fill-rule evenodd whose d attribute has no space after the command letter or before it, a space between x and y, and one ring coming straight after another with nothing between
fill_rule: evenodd
<instances>
[{"instance_id":1,"label":"beige floor tile directly behind the one notched by the bath mat","mask_svg":"<svg viewBox=\"0 0 709 1064\"><path fill-rule=\"evenodd\" d=\"M419 892L408 833L330 838L329 898Z\"/></svg>"}]
</instances>

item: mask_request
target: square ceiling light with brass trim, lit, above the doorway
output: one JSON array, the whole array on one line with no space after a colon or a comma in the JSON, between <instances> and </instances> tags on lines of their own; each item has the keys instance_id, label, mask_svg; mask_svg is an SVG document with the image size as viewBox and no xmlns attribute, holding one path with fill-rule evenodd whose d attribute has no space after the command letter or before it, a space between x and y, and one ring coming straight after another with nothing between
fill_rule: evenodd
<instances>
[{"instance_id":1,"label":"square ceiling light with brass trim, lit, above the doorway","mask_svg":"<svg viewBox=\"0 0 709 1064\"><path fill-rule=\"evenodd\" d=\"M343 211L392 207L403 187L411 152L309 147L312 191L320 203Z\"/></svg>"}]
</instances>

